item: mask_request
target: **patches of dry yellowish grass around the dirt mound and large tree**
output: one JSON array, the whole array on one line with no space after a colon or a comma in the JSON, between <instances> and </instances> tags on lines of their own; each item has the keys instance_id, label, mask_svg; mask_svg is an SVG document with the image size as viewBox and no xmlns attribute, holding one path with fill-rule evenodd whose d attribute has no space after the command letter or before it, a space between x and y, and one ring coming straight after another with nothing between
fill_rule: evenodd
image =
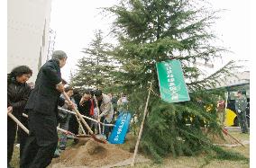
<instances>
[{"instance_id":1,"label":"patches of dry yellowish grass around the dirt mound and large tree","mask_svg":"<svg viewBox=\"0 0 256 168\"><path fill-rule=\"evenodd\" d=\"M241 134L239 132L230 132L233 137L238 138L241 141L249 140L250 135L249 134ZM68 146L71 146L73 140L68 140ZM123 145L118 145L123 150L130 151L131 147L135 145L136 140L135 137L133 137L132 133L128 134L125 140L125 143ZM236 146L236 147L223 147L226 150L231 150L234 152L238 152L246 157L250 157L250 145L243 146ZM13 165L15 168L19 167L19 148L14 147L14 155L11 162L11 165ZM123 166L122 168L128 168L131 166ZM198 168L198 167L204 167L204 168L248 168L250 167L249 163L246 163L244 161L227 161L227 160L207 160L206 155L200 155L200 156L180 156L178 158L173 158L171 155L164 159L162 164L153 164L152 162L144 163L144 164L135 164L135 168Z\"/></svg>"}]
</instances>

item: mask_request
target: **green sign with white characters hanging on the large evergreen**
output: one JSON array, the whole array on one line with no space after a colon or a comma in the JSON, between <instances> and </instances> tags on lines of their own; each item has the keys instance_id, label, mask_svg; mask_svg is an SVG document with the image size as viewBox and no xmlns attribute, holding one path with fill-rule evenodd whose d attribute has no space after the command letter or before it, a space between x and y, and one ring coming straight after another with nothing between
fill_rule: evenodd
<instances>
[{"instance_id":1,"label":"green sign with white characters hanging on the large evergreen","mask_svg":"<svg viewBox=\"0 0 256 168\"><path fill-rule=\"evenodd\" d=\"M180 61L168 60L157 63L160 97L165 102L189 101Z\"/></svg>"}]
</instances>

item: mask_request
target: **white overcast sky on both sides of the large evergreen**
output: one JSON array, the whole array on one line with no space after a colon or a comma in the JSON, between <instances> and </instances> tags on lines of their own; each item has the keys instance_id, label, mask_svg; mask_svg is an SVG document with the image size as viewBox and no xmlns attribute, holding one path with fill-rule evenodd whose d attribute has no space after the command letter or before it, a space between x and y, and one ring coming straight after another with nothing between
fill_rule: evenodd
<instances>
[{"instance_id":1,"label":"white overcast sky on both sides of the large evergreen","mask_svg":"<svg viewBox=\"0 0 256 168\"><path fill-rule=\"evenodd\" d=\"M215 68L222 66L228 59L249 59L249 1L208 1L214 9L226 9L214 29L222 40L218 45L233 51L224 61L218 60ZM116 0L52 1L50 28L56 31L55 49L62 49L69 55L67 65L61 70L64 79L69 81L70 71L75 71L78 59L83 57L81 50L94 38L94 31L109 31L111 18L98 14L101 10L97 8L114 4Z\"/></svg>"}]
</instances>

